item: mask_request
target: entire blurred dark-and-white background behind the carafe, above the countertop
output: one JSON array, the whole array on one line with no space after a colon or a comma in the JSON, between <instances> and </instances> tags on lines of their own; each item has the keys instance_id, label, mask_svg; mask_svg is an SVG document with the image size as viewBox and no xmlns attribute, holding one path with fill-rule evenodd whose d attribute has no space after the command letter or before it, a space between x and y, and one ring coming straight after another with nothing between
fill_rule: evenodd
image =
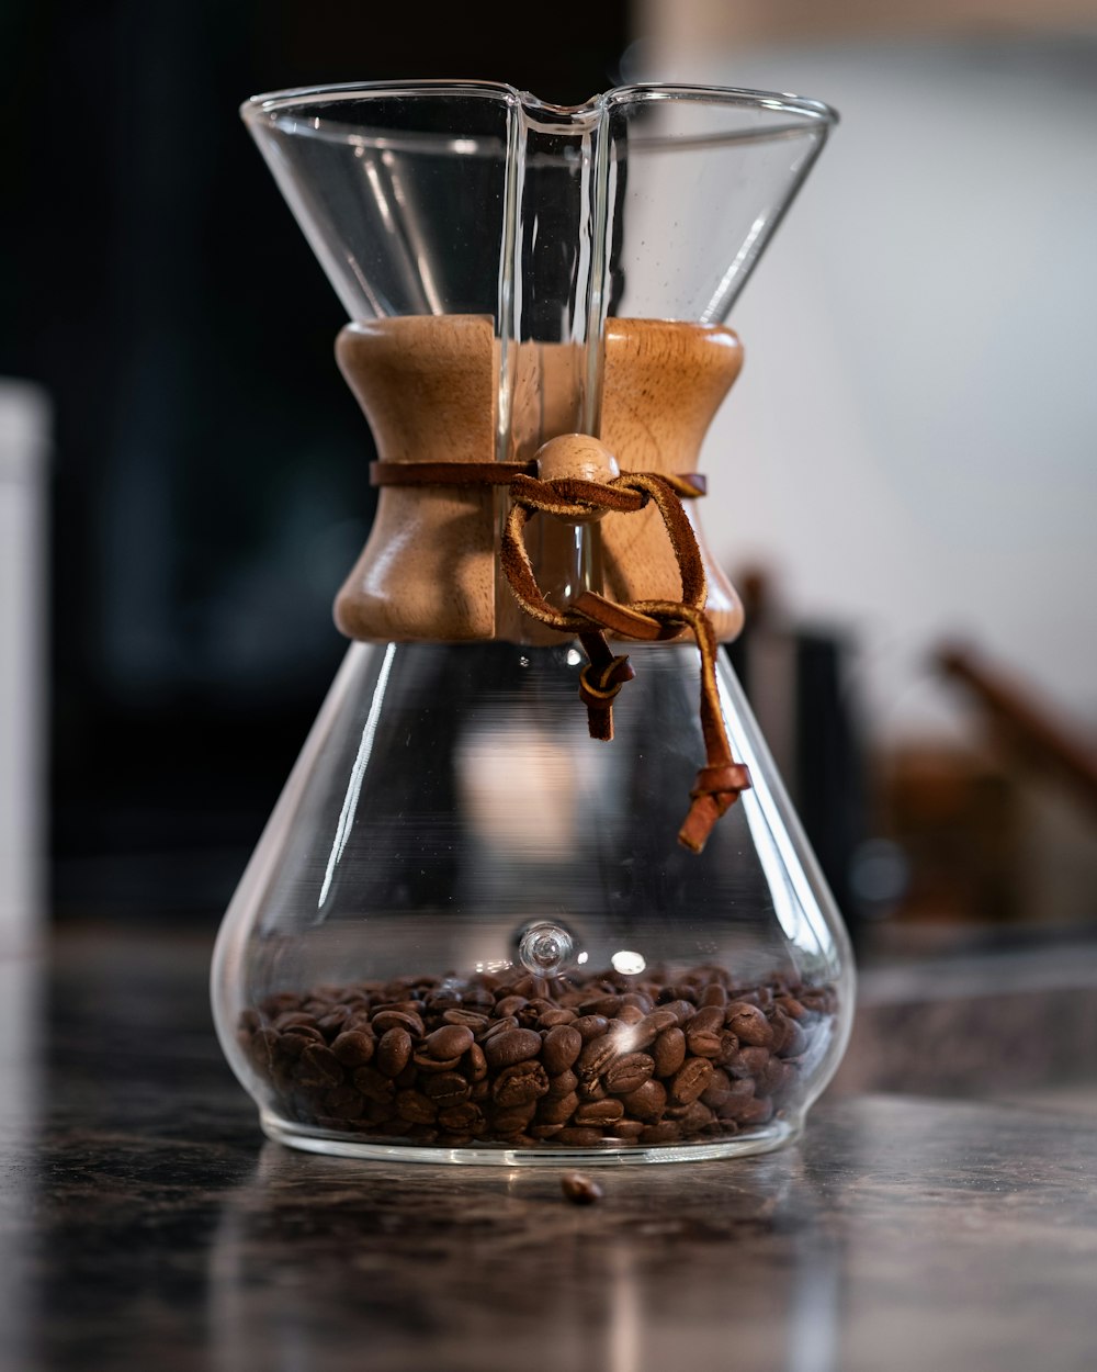
<instances>
[{"instance_id":1,"label":"entire blurred dark-and-white background behind the carafe, above the countertop","mask_svg":"<svg viewBox=\"0 0 1097 1372\"><path fill-rule=\"evenodd\" d=\"M372 440L239 103L477 77L839 110L730 320L731 653L865 958L1097 934L1097 5L603 0L525 32L0 7L0 927L215 927L344 650Z\"/></svg>"}]
</instances>

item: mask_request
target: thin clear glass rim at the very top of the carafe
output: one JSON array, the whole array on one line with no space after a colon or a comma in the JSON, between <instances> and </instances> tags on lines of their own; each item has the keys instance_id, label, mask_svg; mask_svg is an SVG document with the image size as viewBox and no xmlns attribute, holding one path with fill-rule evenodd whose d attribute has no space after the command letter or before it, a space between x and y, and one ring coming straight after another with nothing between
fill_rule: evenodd
<instances>
[{"instance_id":1,"label":"thin clear glass rim at the very top of the carafe","mask_svg":"<svg viewBox=\"0 0 1097 1372\"><path fill-rule=\"evenodd\" d=\"M723 104L730 108L738 107L743 110L767 110L775 114L790 115L794 121L791 123L773 123L772 126L762 129L716 132L703 134L699 139L688 136L686 139L651 139L651 145L662 143L668 145L680 145L683 141L720 144L736 143L745 139L772 139L802 130L809 125L830 129L839 121L838 111L821 100L813 100L784 92L751 91L738 86L687 85L649 81L614 86L602 95L592 96L583 104L558 106L539 100L528 91L518 91L516 86L507 85L502 81L446 78L428 78L421 81L344 81L332 85L295 86L285 91L267 91L244 100L240 106L240 117L247 125L251 126L278 125L287 114L304 114L310 106L341 103L351 104L354 102L366 102L385 96L389 99L399 99L400 96L426 96L436 99L443 96L463 96L498 100L502 104L522 108L533 115L558 119L562 128L566 128L568 123L581 126L583 123L594 122L601 118L605 111L618 106L639 104L643 102L654 103L660 100ZM293 126L287 132L324 136L321 133L320 118L314 117L309 121L309 123L311 125L310 128ZM332 121L325 121L325 123L329 125L326 130L329 136L336 133L336 130L339 130L343 137L354 137L357 133L352 125L332 123ZM395 133L398 130L387 132ZM457 134L457 130L454 130L454 134ZM361 133L358 136L361 136ZM439 140L442 145L448 147L453 143L453 136L447 137L440 133L415 136L415 141L420 147L432 140ZM462 139L462 143L465 141L466 140ZM479 143L476 137L469 139L468 145L461 151L474 151L472 147L474 143Z\"/></svg>"}]
</instances>

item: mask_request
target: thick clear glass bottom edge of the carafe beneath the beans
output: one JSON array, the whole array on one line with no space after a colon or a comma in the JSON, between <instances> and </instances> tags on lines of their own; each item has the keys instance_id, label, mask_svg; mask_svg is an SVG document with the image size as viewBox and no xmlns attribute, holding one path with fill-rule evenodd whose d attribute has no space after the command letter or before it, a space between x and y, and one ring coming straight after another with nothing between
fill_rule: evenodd
<instances>
[{"instance_id":1,"label":"thick clear glass bottom edge of the carafe beneath the beans","mask_svg":"<svg viewBox=\"0 0 1097 1372\"><path fill-rule=\"evenodd\" d=\"M266 1110L259 1113L259 1124L267 1139L304 1152L322 1152L330 1158L361 1158L372 1162L458 1162L465 1166L490 1168L618 1168L638 1162L708 1162L713 1158L747 1158L757 1152L772 1152L799 1137L802 1120L772 1120L749 1133L721 1139L719 1143L658 1144L650 1148L636 1144L603 1144L598 1148L431 1148L395 1143L359 1143L347 1135L326 1129L310 1129L289 1124Z\"/></svg>"}]
</instances>

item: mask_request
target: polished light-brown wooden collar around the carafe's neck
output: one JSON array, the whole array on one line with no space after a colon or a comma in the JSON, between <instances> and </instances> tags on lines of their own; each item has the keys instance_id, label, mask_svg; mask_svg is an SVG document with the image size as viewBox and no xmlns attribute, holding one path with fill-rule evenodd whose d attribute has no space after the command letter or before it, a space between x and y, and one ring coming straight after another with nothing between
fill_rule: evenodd
<instances>
[{"instance_id":1,"label":"polished light-brown wooden collar around the carafe's neck","mask_svg":"<svg viewBox=\"0 0 1097 1372\"><path fill-rule=\"evenodd\" d=\"M473 462L496 457L499 343L485 316L409 317L348 325L339 366L387 462ZM581 350L522 344L513 350L511 450L527 461L577 424ZM658 320L613 320L605 340L602 442L621 471L691 472L709 424L742 365L731 329ZM688 505L721 639L742 627L742 606L708 554L697 502ZM385 487L370 538L336 598L339 628L369 641L554 641L520 615L498 571L505 491ZM553 582L569 535L533 534L531 554ZM598 530L606 595L677 600L673 549L654 509L612 514Z\"/></svg>"}]
</instances>

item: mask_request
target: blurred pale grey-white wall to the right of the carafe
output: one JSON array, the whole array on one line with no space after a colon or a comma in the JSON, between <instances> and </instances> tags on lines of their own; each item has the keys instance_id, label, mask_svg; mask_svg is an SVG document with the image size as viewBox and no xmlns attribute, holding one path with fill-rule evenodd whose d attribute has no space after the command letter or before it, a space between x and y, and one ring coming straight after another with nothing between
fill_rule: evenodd
<instances>
[{"instance_id":1,"label":"blurred pale grey-white wall to the right of the carafe","mask_svg":"<svg viewBox=\"0 0 1097 1372\"><path fill-rule=\"evenodd\" d=\"M703 454L713 550L856 632L882 737L950 731L924 654L967 637L1097 738L1097 37L669 69L640 47L627 75L842 115L730 318L747 361Z\"/></svg>"}]
</instances>

